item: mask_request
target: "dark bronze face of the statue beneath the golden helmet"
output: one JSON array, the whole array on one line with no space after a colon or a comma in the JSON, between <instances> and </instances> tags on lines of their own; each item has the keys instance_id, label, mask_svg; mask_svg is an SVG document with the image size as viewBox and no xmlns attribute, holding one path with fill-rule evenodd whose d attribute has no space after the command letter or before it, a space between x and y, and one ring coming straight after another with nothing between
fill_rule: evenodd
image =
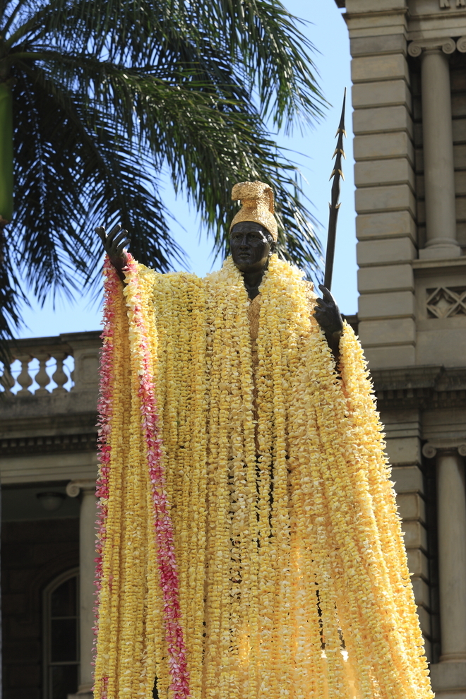
<instances>
[{"instance_id":1,"label":"dark bronze face of the statue beneath the golden helmet","mask_svg":"<svg viewBox=\"0 0 466 699\"><path fill-rule=\"evenodd\" d=\"M260 272L275 249L275 242L260 223L243 221L229 234L232 258L240 272Z\"/></svg>"}]
</instances>

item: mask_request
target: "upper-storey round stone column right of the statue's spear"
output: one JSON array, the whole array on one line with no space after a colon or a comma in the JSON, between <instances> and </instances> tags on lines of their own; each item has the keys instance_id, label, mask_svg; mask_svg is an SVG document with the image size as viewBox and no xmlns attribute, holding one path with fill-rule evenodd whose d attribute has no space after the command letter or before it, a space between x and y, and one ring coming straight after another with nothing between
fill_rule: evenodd
<instances>
[{"instance_id":1,"label":"upper-storey round stone column right of the statue's spear","mask_svg":"<svg viewBox=\"0 0 466 699\"><path fill-rule=\"evenodd\" d=\"M454 42L453 50L454 50ZM442 50L443 49L443 50ZM444 47L422 52L422 133L426 198L426 247L421 258L458 257L450 66Z\"/></svg>"}]
</instances>

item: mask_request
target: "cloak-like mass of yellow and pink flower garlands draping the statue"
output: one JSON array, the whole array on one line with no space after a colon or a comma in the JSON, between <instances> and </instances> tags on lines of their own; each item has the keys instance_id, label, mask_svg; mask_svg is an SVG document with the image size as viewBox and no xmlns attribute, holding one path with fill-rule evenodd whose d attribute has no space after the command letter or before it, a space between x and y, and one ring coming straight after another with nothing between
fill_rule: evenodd
<instances>
[{"instance_id":1,"label":"cloak-like mass of yellow and pink flower garlands draping the statue","mask_svg":"<svg viewBox=\"0 0 466 699\"><path fill-rule=\"evenodd\" d=\"M95 697L427 699L362 349L273 256L249 301L107 266Z\"/></svg>"}]
</instances>

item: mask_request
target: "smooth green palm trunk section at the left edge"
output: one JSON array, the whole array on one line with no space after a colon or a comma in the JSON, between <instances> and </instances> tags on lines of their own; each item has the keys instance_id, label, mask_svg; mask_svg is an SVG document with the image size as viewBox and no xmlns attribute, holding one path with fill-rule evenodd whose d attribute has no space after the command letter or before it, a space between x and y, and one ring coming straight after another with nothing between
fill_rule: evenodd
<instances>
[{"instance_id":1,"label":"smooth green palm trunk section at the left edge","mask_svg":"<svg viewBox=\"0 0 466 699\"><path fill-rule=\"evenodd\" d=\"M13 215L13 95L0 83L0 225Z\"/></svg>"}]
</instances>

